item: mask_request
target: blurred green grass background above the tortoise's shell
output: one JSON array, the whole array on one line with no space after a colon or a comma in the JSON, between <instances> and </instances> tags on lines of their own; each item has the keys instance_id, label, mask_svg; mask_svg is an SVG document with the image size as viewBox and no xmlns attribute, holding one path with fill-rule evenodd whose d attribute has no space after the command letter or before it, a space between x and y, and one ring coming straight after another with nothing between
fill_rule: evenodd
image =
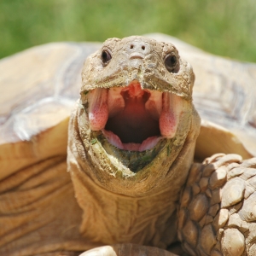
<instances>
[{"instance_id":1,"label":"blurred green grass background above the tortoise's shell","mask_svg":"<svg viewBox=\"0 0 256 256\"><path fill-rule=\"evenodd\" d=\"M0 58L54 41L163 32L256 62L255 0L1 0Z\"/></svg>"}]
</instances>

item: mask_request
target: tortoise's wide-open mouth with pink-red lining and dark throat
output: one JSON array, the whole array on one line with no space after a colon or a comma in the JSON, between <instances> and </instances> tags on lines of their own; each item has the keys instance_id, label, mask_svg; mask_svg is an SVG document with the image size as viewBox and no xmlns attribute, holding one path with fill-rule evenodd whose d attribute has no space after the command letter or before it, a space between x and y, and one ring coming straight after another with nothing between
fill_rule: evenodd
<instances>
[{"instance_id":1,"label":"tortoise's wide-open mouth with pink-red lining and dark throat","mask_svg":"<svg viewBox=\"0 0 256 256\"><path fill-rule=\"evenodd\" d=\"M91 131L128 151L145 151L177 131L182 100L170 92L143 90L134 80L125 87L97 88L88 94Z\"/></svg>"}]
</instances>

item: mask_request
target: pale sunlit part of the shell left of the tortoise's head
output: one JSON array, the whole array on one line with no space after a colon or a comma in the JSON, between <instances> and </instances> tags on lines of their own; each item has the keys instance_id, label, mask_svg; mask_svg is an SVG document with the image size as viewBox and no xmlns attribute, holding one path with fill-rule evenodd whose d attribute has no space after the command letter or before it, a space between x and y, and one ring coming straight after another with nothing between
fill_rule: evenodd
<instances>
[{"instance_id":1,"label":"pale sunlit part of the shell left of the tortoise's head","mask_svg":"<svg viewBox=\"0 0 256 256\"><path fill-rule=\"evenodd\" d=\"M28 141L67 118L84 60L100 45L44 44L0 61L0 143Z\"/></svg>"}]
</instances>

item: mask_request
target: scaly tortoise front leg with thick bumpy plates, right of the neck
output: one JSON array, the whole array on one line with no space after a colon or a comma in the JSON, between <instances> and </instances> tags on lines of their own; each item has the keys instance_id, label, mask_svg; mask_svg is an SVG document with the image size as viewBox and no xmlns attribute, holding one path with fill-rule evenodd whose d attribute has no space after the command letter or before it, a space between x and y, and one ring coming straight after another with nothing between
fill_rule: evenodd
<instances>
[{"instance_id":1,"label":"scaly tortoise front leg with thick bumpy plates, right of the neck","mask_svg":"<svg viewBox=\"0 0 256 256\"><path fill-rule=\"evenodd\" d=\"M178 236L190 255L256 255L256 158L215 154L194 164L180 199Z\"/></svg>"}]
</instances>

